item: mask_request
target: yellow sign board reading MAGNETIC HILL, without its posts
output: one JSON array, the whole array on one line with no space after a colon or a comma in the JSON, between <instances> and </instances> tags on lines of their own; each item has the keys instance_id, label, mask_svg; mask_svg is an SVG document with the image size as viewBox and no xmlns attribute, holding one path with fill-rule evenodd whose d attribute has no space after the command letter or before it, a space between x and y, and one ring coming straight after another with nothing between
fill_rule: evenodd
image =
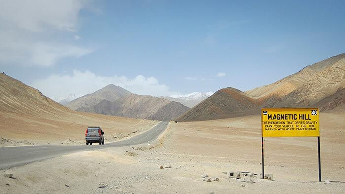
<instances>
[{"instance_id":1,"label":"yellow sign board reading MAGNETIC HILL, without its posts","mask_svg":"<svg viewBox=\"0 0 345 194\"><path fill-rule=\"evenodd\" d=\"M262 137L319 137L318 108L262 108Z\"/></svg>"}]
</instances>

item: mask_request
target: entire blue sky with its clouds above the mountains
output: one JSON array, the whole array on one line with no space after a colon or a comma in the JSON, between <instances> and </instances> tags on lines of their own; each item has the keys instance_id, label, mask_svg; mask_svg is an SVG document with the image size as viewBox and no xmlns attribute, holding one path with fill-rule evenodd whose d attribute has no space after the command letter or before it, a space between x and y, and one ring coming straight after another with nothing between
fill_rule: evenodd
<instances>
[{"instance_id":1,"label":"entire blue sky with its clouds above the mountains","mask_svg":"<svg viewBox=\"0 0 345 194\"><path fill-rule=\"evenodd\" d=\"M48 97L245 91L345 52L344 0L1 4L0 71Z\"/></svg>"}]
</instances>

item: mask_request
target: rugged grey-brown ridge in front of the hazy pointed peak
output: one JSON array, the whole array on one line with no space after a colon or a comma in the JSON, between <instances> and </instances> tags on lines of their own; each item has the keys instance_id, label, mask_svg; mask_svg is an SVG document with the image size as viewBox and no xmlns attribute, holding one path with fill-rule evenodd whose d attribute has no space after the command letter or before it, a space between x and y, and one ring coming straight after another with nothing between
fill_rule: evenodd
<instances>
[{"instance_id":1,"label":"rugged grey-brown ridge in front of the hazy pointed peak","mask_svg":"<svg viewBox=\"0 0 345 194\"><path fill-rule=\"evenodd\" d=\"M114 102L102 100L91 107L77 109L82 112L162 121L172 120L187 110L189 108L179 102L171 103L166 99L137 94L117 99Z\"/></svg>"}]
</instances>

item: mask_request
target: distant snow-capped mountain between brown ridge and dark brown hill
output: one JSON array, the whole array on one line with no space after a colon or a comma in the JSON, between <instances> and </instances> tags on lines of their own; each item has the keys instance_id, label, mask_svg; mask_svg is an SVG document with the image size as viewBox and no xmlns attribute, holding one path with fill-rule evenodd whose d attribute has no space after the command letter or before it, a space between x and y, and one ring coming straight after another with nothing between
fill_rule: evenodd
<instances>
[{"instance_id":1,"label":"distant snow-capped mountain between brown ridge and dark brown hill","mask_svg":"<svg viewBox=\"0 0 345 194\"><path fill-rule=\"evenodd\" d=\"M192 92L190 94L186 95L171 95L168 97L159 97L164 98L170 101L180 102L181 104L188 106L189 108L192 108L193 106L199 104L201 101L206 99L207 97L210 97L213 94L213 92Z\"/></svg>"}]
</instances>

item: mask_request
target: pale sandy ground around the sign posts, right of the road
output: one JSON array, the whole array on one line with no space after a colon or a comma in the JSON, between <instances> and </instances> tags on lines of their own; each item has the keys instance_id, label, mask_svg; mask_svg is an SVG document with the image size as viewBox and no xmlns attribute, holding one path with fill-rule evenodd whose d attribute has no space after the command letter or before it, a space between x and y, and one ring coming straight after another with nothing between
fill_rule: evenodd
<instances>
[{"instance_id":1,"label":"pale sandy ground around the sign posts, right of the road","mask_svg":"<svg viewBox=\"0 0 345 194\"><path fill-rule=\"evenodd\" d=\"M322 179L345 181L345 116L321 113ZM243 183L225 171L261 172L260 116L171 122L151 145L64 155L2 171L2 193L344 193L318 180L314 138L266 138L265 172L274 181ZM159 169L163 165L164 168ZM205 182L201 175L218 177ZM5 185L6 183L9 184ZM241 185L245 187L241 187ZM67 186L66 186L67 185Z\"/></svg>"}]
</instances>

